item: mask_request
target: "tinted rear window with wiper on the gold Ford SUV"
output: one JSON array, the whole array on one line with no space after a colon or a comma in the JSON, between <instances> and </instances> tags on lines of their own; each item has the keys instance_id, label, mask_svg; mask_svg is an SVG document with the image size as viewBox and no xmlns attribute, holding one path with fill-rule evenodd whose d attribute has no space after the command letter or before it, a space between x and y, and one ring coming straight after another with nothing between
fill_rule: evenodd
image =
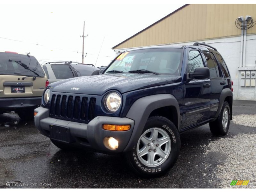
<instances>
[{"instance_id":1,"label":"tinted rear window with wiper on the gold Ford SUV","mask_svg":"<svg viewBox=\"0 0 256 192\"><path fill-rule=\"evenodd\" d=\"M6 52L0 52L0 74L45 76L44 70L35 57Z\"/></svg>"}]
</instances>

